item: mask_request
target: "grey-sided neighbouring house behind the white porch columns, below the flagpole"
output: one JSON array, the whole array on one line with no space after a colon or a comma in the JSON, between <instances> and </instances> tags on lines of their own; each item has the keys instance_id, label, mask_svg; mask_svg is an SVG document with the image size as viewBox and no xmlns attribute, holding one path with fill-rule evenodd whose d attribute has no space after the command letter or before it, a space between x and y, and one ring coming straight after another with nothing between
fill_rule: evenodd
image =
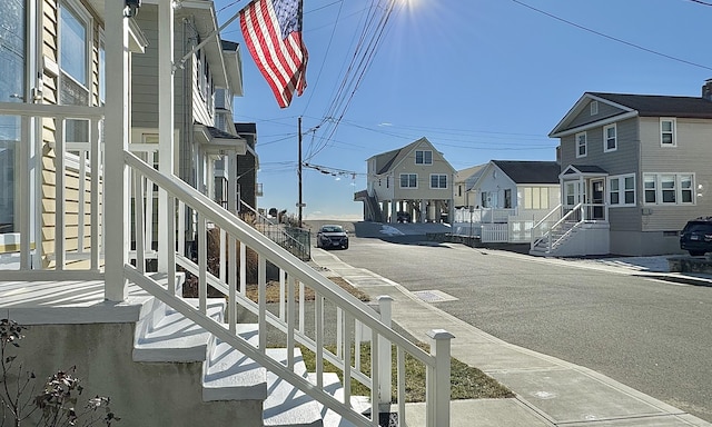
<instances>
[{"instance_id":1,"label":"grey-sided neighbouring house behind the white porch columns, below the flagpole","mask_svg":"<svg viewBox=\"0 0 712 427\"><path fill-rule=\"evenodd\" d=\"M175 11L174 27L174 173L191 187L216 198L216 161L237 165L246 142L233 122L234 98L243 95L239 44L214 37L218 29L211 1L185 1ZM135 18L148 46L132 60L131 150L158 163L158 6L144 4ZM225 207L238 210L234 197ZM227 200L226 200L227 201ZM196 234L195 216L184 216L188 236ZM154 242L158 238L154 229ZM188 244L192 245L192 238Z\"/></svg>"}]
</instances>

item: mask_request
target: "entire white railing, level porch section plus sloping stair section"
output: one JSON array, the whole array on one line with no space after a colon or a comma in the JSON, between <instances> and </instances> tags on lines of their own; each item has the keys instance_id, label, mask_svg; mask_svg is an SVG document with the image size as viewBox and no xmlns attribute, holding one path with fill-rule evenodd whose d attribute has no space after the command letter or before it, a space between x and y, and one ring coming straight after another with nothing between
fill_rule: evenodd
<instances>
[{"instance_id":1,"label":"entire white railing, level porch section plus sloping stair section","mask_svg":"<svg viewBox=\"0 0 712 427\"><path fill-rule=\"evenodd\" d=\"M21 118L20 140L24 143L18 145L18 165L20 165L16 176L18 193L34 195L16 199L16 202L19 203L18 209L22 212L18 225L21 262L19 268L14 270L2 270L2 279L26 281L102 279L105 276L103 254L105 248L109 246L120 245L128 260L130 232L126 232L128 241L103 241L107 236L106 229L111 225L102 221L102 207L108 198L122 196L106 193L102 186L105 179L102 143L100 143L102 110L100 108L0 103L0 115ZM87 141L69 142L63 138L66 135L63 132L65 122L69 119L88 123ZM38 136L44 136L47 141L42 142ZM51 150L55 156L49 156L48 150ZM69 159L73 159L75 165L70 165ZM397 355L395 396L397 396L398 403L399 424L405 425L406 418L405 357L409 355L426 367L427 425L449 425L449 339L452 335L443 330L433 330L429 334L432 338L431 351L424 351L395 332L387 325L387 318L382 320L369 307L366 307L350 294L335 286L307 264L181 180L162 175L154 169L152 165L142 161L129 151L123 151L123 159L111 159L111 161L121 161L134 178L134 196L131 197L129 191L125 192L128 198L126 205L131 207L132 214L125 220L127 224L130 222L128 226L134 231L136 266L123 265L121 271L125 281L140 286L220 340L230 344L234 348L357 426L377 426L382 406L389 406L392 401L392 373L389 364L385 360L390 360L390 348L394 346ZM68 176L72 179L77 178L77 182L83 182L78 186L88 186L88 188L78 191L68 188ZM128 179L125 181L125 186L128 187ZM50 191L52 187L56 188L55 191ZM158 198L166 198L166 203L154 203L156 191ZM52 196L52 192L57 193L55 199L49 197ZM184 221L179 218L180 212L184 211L181 209L184 205L195 211L197 216L197 262L182 256L185 254L182 250L185 235L180 225ZM165 286L146 275L146 260L157 256L155 249L150 247L152 238L146 235L151 230L149 224L152 225L154 221L155 206L167 206L165 211L157 212L158 220L168 224L168 236L174 240L166 247L178 249L178 251L171 250L168 254L168 271L164 272L168 274L169 280ZM47 211L44 215L42 215L42 209ZM81 236L81 241L87 241L87 244L77 244L79 247L72 242L76 239L75 235L70 236L65 232L75 226L68 220L68 212L73 210L77 210L79 212L77 215L81 217L81 219L76 219L77 225L83 224L81 227L83 231L77 231L77 238ZM71 215L73 218L73 214ZM42 219L42 217L46 218ZM221 248L220 254L225 257L227 266L220 269L217 276L210 274L208 268L208 239L206 236L211 226L219 228L226 236L226 245ZM82 232L83 235L81 235ZM164 246L159 246L158 252L161 247ZM257 302L246 296L245 269L248 250L256 254L257 257ZM38 258L43 262L32 262L32 259ZM70 262L75 259L76 262ZM280 289L284 296L276 310L269 309L266 302L268 262L278 268ZM197 309L185 302L181 295L176 295L176 286L171 279L175 279L179 265L197 277L200 300ZM229 301L227 327L207 316L208 286L227 296ZM307 291L313 292L315 300L313 305L309 305L310 309L307 309L305 301ZM257 317L259 327L257 347L236 334L238 308L251 311ZM329 310L338 312L342 321L326 324L324 316ZM385 311L388 310L385 309ZM306 327L307 316L313 316L315 319L313 328ZM268 326L281 332L284 339L280 340L280 345L286 342L288 349L303 345L315 352L316 384L295 374L293 351L287 351L290 356L286 364L268 356L266 351ZM334 330L329 330L329 328ZM357 330L370 330L369 355L362 355L362 340L360 335L356 334ZM329 331L335 334L327 334ZM325 337L330 335L339 337L336 351L324 348ZM368 358L369 368L362 365L362 357ZM332 363L340 371L344 383L344 396L340 399L332 397L323 390L322 374L325 361ZM353 381L362 383L370 389L370 416L364 416L352 408L350 384Z\"/></svg>"}]
</instances>

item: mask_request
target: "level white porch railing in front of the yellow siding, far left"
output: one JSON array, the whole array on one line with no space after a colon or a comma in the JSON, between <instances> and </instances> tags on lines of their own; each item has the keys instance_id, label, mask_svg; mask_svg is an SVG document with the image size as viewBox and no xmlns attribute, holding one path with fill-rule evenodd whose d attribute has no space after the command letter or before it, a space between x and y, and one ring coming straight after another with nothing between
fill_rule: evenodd
<instances>
[{"instance_id":1,"label":"level white porch railing in front of the yellow siding, far left","mask_svg":"<svg viewBox=\"0 0 712 427\"><path fill-rule=\"evenodd\" d=\"M0 102L0 116L20 123L13 198L20 261L3 278L100 278L103 110ZM83 140L68 139L70 121Z\"/></svg>"}]
</instances>

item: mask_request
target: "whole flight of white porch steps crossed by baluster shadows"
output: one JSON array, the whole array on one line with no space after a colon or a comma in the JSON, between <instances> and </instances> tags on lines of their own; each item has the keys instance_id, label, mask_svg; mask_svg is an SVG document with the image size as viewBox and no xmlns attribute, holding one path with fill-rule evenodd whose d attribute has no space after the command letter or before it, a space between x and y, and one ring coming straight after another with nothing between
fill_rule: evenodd
<instances>
[{"instance_id":1,"label":"whole flight of white porch steps crossed by baluster shadows","mask_svg":"<svg viewBox=\"0 0 712 427\"><path fill-rule=\"evenodd\" d=\"M198 299L186 301L195 307L199 305ZM222 322L225 308L224 299L209 299L207 315ZM257 324L238 324L236 332L253 347L258 347ZM265 351L287 364L286 348L267 348ZM132 358L134 363L141 364L202 364L201 378L195 381L201 385L202 401L230 401L235 411L243 415L255 411L256 403L261 403L261 411L254 418L261 417L263 424L257 419L250 425L354 426L156 298L150 298L141 310L136 325ZM307 373L299 348L294 349L294 358L295 373L316 386L316 374ZM323 389L339 399L344 396L336 374L324 374ZM365 397L353 396L350 403L359 411L370 409ZM235 425L245 424L236 420Z\"/></svg>"}]
</instances>

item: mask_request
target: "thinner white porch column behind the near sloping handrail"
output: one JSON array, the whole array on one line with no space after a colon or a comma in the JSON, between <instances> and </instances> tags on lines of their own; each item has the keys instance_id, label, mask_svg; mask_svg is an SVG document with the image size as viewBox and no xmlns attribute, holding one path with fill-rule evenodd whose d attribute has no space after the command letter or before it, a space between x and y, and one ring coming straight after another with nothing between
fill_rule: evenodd
<instances>
[{"instance_id":1,"label":"thinner white porch column behind the near sloping handrail","mask_svg":"<svg viewBox=\"0 0 712 427\"><path fill-rule=\"evenodd\" d=\"M113 0L116 1L116 0ZM121 3L123 3L121 1ZM182 136L186 137L185 135ZM158 2L158 170L170 176L174 170L174 8L171 1ZM168 195L158 192L158 271L168 272L175 258L174 232L169 226L176 209ZM172 227L171 227L172 228ZM181 237L182 238L182 237ZM205 238L205 236L201 236Z\"/></svg>"}]
</instances>

